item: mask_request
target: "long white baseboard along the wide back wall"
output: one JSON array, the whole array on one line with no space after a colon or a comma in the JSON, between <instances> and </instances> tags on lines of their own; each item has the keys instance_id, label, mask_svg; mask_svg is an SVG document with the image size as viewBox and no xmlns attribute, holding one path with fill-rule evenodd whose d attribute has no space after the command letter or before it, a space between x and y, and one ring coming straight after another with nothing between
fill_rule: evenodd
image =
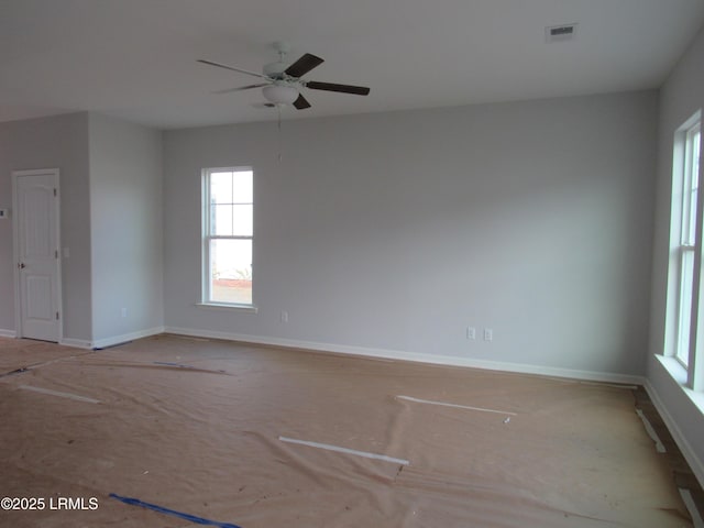
<instances>
[{"instance_id":1,"label":"long white baseboard along the wide back wall","mask_svg":"<svg viewBox=\"0 0 704 528\"><path fill-rule=\"evenodd\" d=\"M475 360L453 355L421 354L418 352L405 352L399 350L367 349L345 344L319 343L315 341L297 341L280 338L266 338L241 333L217 332L193 328L166 327L165 332L196 338L222 339L244 343L266 344L287 349L304 349L317 352L332 352L340 354L360 355L364 358L377 358L384 360L413 361L417 363L430 363L433 365L466 366L490 371L515 372L520 374L537 374L541 376L566 377L571 380L585 380L591 382L626 383L642 385L644 377L627 374L614 374L608 372L578 371L571 369L556 369L550 366L526 365L521 363L505 363L498 361Z\"/></svg>"}]
</instances>

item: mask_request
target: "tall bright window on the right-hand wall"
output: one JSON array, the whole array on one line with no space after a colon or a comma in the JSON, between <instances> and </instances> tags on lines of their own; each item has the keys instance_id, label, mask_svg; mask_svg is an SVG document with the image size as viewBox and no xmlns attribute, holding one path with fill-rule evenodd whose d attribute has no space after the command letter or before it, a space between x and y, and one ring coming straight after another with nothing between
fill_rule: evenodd
<instances>
[{"instance_id":1,"label":"tall bright window on the right-hand wall","mask_svg":"<svg viewBox=\"0 0 704 528\"><path fill-rule=\"evenodd\" d=\"M700 294L702 274L702 218L697 215L700 197L700 116L690 119L675 134L672 179L671 270L676 279L668 292L673 300L674 332L672 355L688 371L688 385L695 388L703 381L696 375L695 363L700 355L704 363L704 334L698 320L704 321L704 296ZM701 306L701 309L700 309ZM704 326L703 326L704 328ZM698 343L698 346L697 346ZM701 365L700 365L701 366Z\"/></svg>"}]
</instances>

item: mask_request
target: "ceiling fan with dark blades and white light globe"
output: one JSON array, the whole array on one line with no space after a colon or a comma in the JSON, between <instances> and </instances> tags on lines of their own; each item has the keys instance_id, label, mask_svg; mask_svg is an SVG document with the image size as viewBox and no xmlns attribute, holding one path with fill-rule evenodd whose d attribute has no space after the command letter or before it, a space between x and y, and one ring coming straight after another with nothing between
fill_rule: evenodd
<instances>
[{"instance_id":1,"label":"ceiling fan with dark blades and white light globe","mask_svg":"<svg viewBox=\"0 0 704 528\"><path fill-rule=\"evenodd\" d=\"M317 57L316 55L311 55L310 53L306 53L294 64L288 64L286 63L286 54L290 51L289 45L285 42L275 42L274 48L278 52L278 61L265 65L261 74L257 74L256 72L250 72L248 69L235 68L234 66L228 66L227 64L206 61L204 58L199 58L198 62L207 64L209 66L230 69L232 72L239 72L241 74L251 75L253 77L258 77L260 79L262 79L261 82L257 82L255 85L229 88L226 90L219 90L216 94L230 94L233 91L262 88L264 98L273 106L293 105L298 110L310 108L310 103L300 92L301 88L309 88L311 90L337 91L341 94L353 94L355 96L366 96L370 92L370 89L364 86L338 85L333 82L320 82L317 80L304 80L301 79L301 77L317 66L320 66L323 62L322 58Z\"/></svg>"}]
</instances>

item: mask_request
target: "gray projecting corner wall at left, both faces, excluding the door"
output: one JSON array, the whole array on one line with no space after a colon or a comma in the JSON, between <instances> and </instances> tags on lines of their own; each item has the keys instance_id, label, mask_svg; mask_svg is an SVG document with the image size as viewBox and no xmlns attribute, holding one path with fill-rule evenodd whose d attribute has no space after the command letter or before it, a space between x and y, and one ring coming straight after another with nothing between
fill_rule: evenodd
<instances>
[{"instance_id":1,"label":"gray projecting corner wall at left, both faces, excluding the door","mask_svg":"<svg viewBox=\"0 0 704 528\"><path fill-rule=\"evenodd\" d=\"M0 208L12 204L12 170L61 169L68 343L90 346L163 327L162 154L161 132L97 114L0 123ZM0 221L3 333L15 330L12 256L10 218Z\"/></svg>"}]
</instances>

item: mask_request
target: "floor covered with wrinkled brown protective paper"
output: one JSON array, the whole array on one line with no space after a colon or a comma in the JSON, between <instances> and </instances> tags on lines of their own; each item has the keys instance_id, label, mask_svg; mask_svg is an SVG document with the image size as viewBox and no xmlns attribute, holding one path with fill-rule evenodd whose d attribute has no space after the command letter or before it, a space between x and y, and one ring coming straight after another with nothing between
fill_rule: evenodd
<instances>
[{"instance_id":1,"label":"floor covered with wrinkled brown protective paper","mask_svg":"<svg viewBox=\"0 0 704 528\"><path fill-rule=\"evenodd\" d=\"M176 336L0 339L18 508L0 526L691 527L632 389Z\"/></svg>"}]
</instances>

